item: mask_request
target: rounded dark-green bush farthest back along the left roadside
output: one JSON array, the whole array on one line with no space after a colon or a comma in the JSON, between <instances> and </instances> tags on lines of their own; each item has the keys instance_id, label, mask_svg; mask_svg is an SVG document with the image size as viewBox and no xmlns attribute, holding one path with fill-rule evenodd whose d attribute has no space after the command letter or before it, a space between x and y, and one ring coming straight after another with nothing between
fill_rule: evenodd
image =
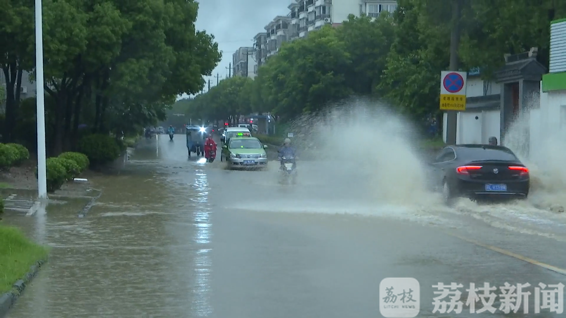
<instances>
[{"instance_id":1,"label":"rounded dark-green bush farthest back along the left roadside","mask_svg":"<svg viewBox=\"0 0 566 318\"><path fill-rule=\"evenodd\" d=\"M108 135L87 135L79 141L79 152L87 155L91 165L103 165L120 156L120 145Z\"/></svg>"}]
</instances>

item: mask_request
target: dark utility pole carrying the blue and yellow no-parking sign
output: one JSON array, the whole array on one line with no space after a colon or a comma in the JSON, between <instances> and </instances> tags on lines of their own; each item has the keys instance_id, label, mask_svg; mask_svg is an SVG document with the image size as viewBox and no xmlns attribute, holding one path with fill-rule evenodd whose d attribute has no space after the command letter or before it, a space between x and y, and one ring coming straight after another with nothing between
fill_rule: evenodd
<instances>
[{"instance_id":1,"label":"dark utility pole carrying the blue and yellow no-parking sign","mask_svg":"<svg viewBox=\"0 0 566 318\"><path fill-rule=\"evenodd\" d=\"M458 71L458 46L460 46L460 16L462 11L462 0L452 1L452 33L450 35L450 69ZM448 110L446 120L446 143L456 144L458 111Z\"/></svg>"}]
</instances>

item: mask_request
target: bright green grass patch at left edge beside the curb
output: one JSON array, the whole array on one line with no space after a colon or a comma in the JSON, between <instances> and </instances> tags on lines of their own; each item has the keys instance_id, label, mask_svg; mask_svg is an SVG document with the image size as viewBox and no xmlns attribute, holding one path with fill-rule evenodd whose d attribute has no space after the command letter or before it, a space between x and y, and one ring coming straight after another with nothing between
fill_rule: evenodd
<instances>
[{"instance_id":1,"label":"bright green grass patch at left edge beside the curb","mask_svg":"<svg viewBox=\"0 0 566 318\"><path fill-rule=\"evenodd\" d=\"M45 260L48 248L32 242L14 226L0 225L0 294L29 272L29 267Z\"/></svg>"}]
</instances>

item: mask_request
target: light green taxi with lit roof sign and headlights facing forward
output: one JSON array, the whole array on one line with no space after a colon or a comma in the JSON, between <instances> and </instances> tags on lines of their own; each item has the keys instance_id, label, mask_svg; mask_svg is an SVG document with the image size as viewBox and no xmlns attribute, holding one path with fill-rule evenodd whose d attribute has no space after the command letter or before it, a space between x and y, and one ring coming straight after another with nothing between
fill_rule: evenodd
<instances>
[{"instance_id":1,"label":"light green taxi with lit roof sign and headlights facing forward","mask_svg":"<svg viewBox=\"0 0 566 318\"><path fill-rule=\"evenodd\" d=\"M220 161L226 160L229 169L265 169L267 168L265 148L267 145L262 145L255 137L231 137L228 144L222 146Z\"/></svg>"}]
</instances>

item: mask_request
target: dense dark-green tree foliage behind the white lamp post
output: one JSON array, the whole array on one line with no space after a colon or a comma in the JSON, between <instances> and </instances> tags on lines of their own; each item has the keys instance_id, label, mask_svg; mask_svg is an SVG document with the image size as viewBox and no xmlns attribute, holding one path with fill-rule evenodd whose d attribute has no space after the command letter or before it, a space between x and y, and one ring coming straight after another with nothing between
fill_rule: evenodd
<instances>
[{"instance_id":1,"label":"dense dark-green tree foliage behind the white lamp post","mask_svg":"<svg viewBox=\"0 0 566 318\"><path fill-rule=\"evenodd\" d=\"M0 67L6 85L3 137L22 115L22 71L35 71L33 1L0 0ZM48 145L73 149L78 127L95 134L135 133L165 119L183 93L204 87L221 54L195 29L194 0L44 0L44 72ZM34 114L35 115L35 114Z\"/></svg>"}]
</instances>

